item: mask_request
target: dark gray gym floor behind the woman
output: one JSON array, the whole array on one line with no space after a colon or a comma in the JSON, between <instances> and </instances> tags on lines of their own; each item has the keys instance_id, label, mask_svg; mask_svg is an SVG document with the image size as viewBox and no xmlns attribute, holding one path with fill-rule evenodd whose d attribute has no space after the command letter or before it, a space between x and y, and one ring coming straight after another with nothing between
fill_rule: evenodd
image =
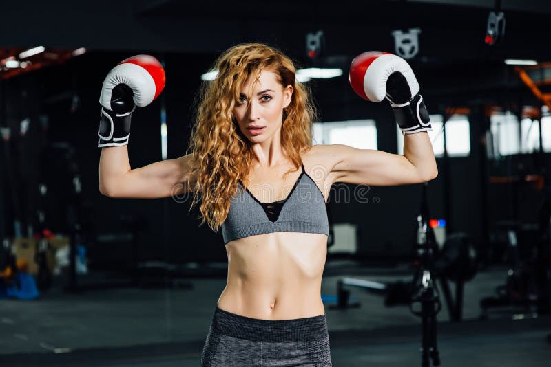
<instances>
[{"instance_id":1,"label":"dark gray gym floor behind the woman","mask_svg":"<svg viewBox=\"0 0 551 367\"><path fill-rule=\"evenodd\" d=\"M187 278L171 287L103 287L63 291L62 280L39 300L2 300L0 360L6 366L199 366L216 301L225 287L217 278ZM409 280L407 267L360 267L328 261L322 294L335 296L343 277ZM479 301L503 284L506 268L477 274L465 286L464 321L438 315L438 348L444 366L548 366L551 317L495 309L481 320ZM123 285L123 278L80 276L82 285ZM191 285L191 287L189 287ZM326 303L333 366L418 366L421 319L407 306L384 307L382 296L351 289L360 307ZM444 304L444 300L442 300Z\"/></svg>"}]
</instances>

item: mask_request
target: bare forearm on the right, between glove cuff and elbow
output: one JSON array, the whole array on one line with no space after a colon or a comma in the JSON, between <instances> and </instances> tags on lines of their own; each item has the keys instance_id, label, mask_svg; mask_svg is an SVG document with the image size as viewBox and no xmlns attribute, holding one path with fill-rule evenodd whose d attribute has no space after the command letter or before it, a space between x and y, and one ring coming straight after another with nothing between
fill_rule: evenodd
<instances>
[{"instance_id":1,"label":"bare forearm on the right, between glove cuff and elbow","mask_svg":"<svg viewBox=\"0 0 551 367\"><path fill-rule=\"evenodd\" d=\"M423 181L434 179L438 175L438 168L428 133L423 131L403 136L404 157L415 166Z\"/></svg>"}]
</instances>

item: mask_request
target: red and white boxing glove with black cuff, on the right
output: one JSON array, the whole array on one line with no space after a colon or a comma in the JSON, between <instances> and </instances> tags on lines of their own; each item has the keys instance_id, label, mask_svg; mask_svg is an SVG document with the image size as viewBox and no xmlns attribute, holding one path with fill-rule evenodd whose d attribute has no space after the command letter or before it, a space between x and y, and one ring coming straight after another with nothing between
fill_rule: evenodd
<instances>
[{"instance_id":1,"label":"red and white boxing glove with black cuff, on the right","mask_svg":"<svg viewBox=\"0 0 551 367\"><path fill-rule=\"evenodd\" d=\"M388 52L364 52L352 60L349 80L360 97L372 102L386 98L391 103L403 135L432 130L419 82L403 58Z\"/></svg>"}]
</instances>

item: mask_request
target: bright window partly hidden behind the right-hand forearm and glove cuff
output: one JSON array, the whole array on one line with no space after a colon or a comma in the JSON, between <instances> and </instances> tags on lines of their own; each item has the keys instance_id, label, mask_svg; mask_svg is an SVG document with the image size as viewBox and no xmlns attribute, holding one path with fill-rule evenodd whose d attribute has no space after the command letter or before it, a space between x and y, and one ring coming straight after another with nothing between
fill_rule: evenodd
<instances>
[{"instance_id":1,"label":"bright window partly hidden behind the right-hand forearm and glove cuff","mask_svg":"<svg viewBox=\"0 0 551 367\"><path fill-rule=\"evenodd\" d=\"M444 155L444 130L441 115L430 115L432 131L428 131L430 142L433 143L435 157ZM404 154L404 135L397 127L398 154ZM466 157L470 153L470 127L466 115L453 115L446 122L446 149L449 157Z\"/></svg>"}]
</instances>

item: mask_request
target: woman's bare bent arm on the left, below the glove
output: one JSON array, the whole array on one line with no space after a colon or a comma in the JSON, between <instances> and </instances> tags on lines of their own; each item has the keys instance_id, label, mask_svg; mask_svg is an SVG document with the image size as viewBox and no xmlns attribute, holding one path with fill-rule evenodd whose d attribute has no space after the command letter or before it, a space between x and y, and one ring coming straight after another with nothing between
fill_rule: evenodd
<instances>
[{"instance_id":1,"label":"woman's bare bent arm on the left, below the glove","mask_svg":"<svg viewBox=\"0 0 551 367\"><path fill-rule=\"evenodd\" d=\"M187 192L191 155L130 168L127 146L103 148L99 191L108 197L158 198Z\"/></svg>"}]
</instances>

